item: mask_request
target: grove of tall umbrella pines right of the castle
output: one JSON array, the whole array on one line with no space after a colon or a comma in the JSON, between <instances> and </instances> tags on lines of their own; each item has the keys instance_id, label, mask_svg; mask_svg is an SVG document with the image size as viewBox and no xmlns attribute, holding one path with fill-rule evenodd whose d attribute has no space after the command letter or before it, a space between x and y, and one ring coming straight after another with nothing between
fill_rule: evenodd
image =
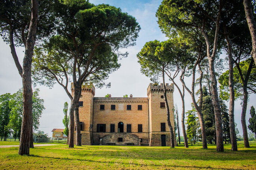
<instances>
[{"instance_id":1,"label":"grove of tall umbrella pines right of the castle","mask_svg":"<svg viewBox=\"0 0 256 170\"><path fill-rule=\"evenodd\" d=\"M215 142L216 150L224 151L224 138L231 142L231 150L237 151L234 101L239 98L242 99L244 146L250 147L245 118L249 94L256 93L254 9L255 3L246 0L163 0L158 7L157 22L169 39L146 42L137 58L143 74L154 82L162 80L164 96L165 76L176 86L182 100L185 147L188 147L188 138L192 139L196 131L191 128L186 134L185 90L193 103L193 111L188 113L188 126L195 127L195 121L200 126L203 148L207 148L207 143ZM221 59L223 53L226 57ZM220 75L223 62L228 63L229 70ZM185 83L190 76L191 85ZM196 86L199 87L196 89ZM166 97L164 99L167 105ZM223 100L229 100L229 108L224 106ZM197 118L192 112L197 113ZM168 107L166 113L168 122ZM174 125L170 122L168 125L173 141Z\"/></svg>"}]
</instances>

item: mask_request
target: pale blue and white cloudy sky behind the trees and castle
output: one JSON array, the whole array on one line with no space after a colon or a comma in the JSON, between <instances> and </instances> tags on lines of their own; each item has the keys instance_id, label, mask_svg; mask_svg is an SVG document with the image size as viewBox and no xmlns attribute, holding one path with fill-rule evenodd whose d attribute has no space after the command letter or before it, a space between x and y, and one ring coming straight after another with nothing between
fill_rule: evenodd
<instances>
[{"instance_id":1,"label":"pale blue and white cloudy sky behind the trees and castle","mask_svg":"<svg viewBox=\"0 0 256 170\"><path fill-rule=\"evenodd\" d=\"M140 65L136 54L142 49L144 44L148 41L153 41L155 39L159 41L167 40L166 36L161 33L160 28L157 24L157 18L155 13L159 7L161 0L90 0L93 4L110 4L111 6L120 7L123 12L127 12L136 18L137 22L141 26L141 31L139 32L139 37L136 41L135 46L131 46L126 50L129 52L127 58L123 58L119 61L121 67L110 74L106 83L111 83L111 87L106 89L95 90L95 97L104 97L106 94L111 94L112 97L123 97L124 94L133 95L133 97L147 97L146 89L151 83L150 79L140 72ZM16 48L19 61L22 64L22 59L24 57L24 48ZM10 47L3 39L0 39L0 95L4 93L15 93L19 88L22 87L22 80L18 74L18 70L13 61L12 55L10 53ZM226 63L225 63L226 64ZM167 78L166 78L167 79ZM166 83L172 83L166 80ZM191 87L191 77L186 78L185 83L187 86ZM177 81L177 84L181 86L181 83ZM64 118L63 106L64 102L70 104L70 99L65 93L64 89L55 84L52 89L46 86L36 86L33 89L40 89L40 97L44 99L43 114L40 118L39 130L52 136L53 128L64 128L62 124L62 119ZM178 90L175 88L174 93L174 105L177 105L179 111L179 118L181 118L182 103L181 97ZM250 117L249 110L252 105L255 105L256 95L253 94L249 98L247 113L246 113L246 123L248 125L248 120ZM191 109L191 96L189 93L185 93L185 110ZM235 101L235 122L237 122L237 127L240 134L243 134L241 126L241 101ZM228 105L228 103L227 103ZM256 105L255 105L256 106ZM179 120L179 125L181 129L181 120ZM182 134L181 134L182 136Z\"/></svg>"}]
</instances>

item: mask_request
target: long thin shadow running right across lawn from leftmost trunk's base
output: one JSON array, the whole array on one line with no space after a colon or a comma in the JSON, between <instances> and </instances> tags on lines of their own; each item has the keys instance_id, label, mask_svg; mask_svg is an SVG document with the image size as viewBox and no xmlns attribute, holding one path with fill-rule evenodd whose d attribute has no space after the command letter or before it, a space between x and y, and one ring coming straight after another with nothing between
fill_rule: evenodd
<instances>
[{"instance_id":1,"label":"long thin shadow running right across lawn from leftmost trunk's base","mask_svg":"<svg viewBox=\"0 0 256 170\"><path fill-rule=\"evenodd\" d=\"M118 162L118 161L97 161L97 160L89 160L89 159L71 159L71 158L61 158L61 157L43 157L39 155L30 155L31 157L38 157L38 158L43 158L43 159L56 159L57 161L61 160L68 160L68 161L88 161L88 162L93 162L93 163L117 163L117 164L126 164L126 165L135 165L135 166L153 166L153 167L175 167L175 168L195 168L195 169L211 169L211 170L243 170L243 169L234 169L234 168L213 168L210 166L179 166L179 165L156 165L156 164L139 164L139 163L126 163L126 162Z\"/></svg>"}]
</instances>

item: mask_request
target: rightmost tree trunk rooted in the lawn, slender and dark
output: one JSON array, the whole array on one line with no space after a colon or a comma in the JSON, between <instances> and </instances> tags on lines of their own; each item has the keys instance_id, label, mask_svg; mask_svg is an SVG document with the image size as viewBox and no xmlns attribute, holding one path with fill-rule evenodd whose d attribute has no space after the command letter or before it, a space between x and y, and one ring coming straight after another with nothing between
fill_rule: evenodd
<instances>
[{"instance_id":1,"label":"rightmost tree trunk rooted in the lawn, slender and dark","mask_svg":"<svg viewBox=\"0 0 256 170\"><path fill-rule=\"evenodd\" d=\"M241 114L241 122L243 127L243 137L244 137L244 147L250 148L248 134L247 134L247 126L246 126L246 109L247 109L247 102L248 102L248 92L247 92L247 83L243 85L243 107L242 107L242 114Z\"/></svg>"}]
</instances>

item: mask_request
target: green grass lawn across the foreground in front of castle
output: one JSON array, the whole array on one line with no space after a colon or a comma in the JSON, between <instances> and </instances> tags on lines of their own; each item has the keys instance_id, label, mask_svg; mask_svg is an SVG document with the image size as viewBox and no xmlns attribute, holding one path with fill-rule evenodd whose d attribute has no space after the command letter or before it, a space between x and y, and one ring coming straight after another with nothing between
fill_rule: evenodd
<instances>
[{"instance_id":1,"label":"green grass lawn across the foreground in front of castle","mask_svg":"<svg viewBox=\"0 0 256 170\"><path fill-rule=\"evenodd\" d=\"M216 146L134 147L82 146L68 148L65 144L36 147L30 156L18 155L18 147L0 148L0 169L256 169L256 144L251 148L224 145L225 152L217 153Z\"/></svg>"}]
</instances>

